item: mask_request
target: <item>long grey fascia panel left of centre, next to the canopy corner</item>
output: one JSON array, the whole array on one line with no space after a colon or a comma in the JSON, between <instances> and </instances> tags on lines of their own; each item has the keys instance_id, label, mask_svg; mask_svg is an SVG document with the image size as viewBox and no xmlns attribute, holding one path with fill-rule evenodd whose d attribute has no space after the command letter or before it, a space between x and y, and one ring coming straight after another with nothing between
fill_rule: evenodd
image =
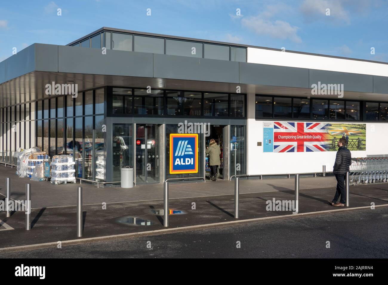
<instances>
[{"instance_id":1,"label":"long grey fascia panel left of centre, next to the canopy corner","mask_svg":"<svg viewBox=\"0 0 388 285\"><path fill-rule=\"evenodd\" d=\"M59 46L59 72L152 77L152 54Z\"/></svg>"}]
</instances>

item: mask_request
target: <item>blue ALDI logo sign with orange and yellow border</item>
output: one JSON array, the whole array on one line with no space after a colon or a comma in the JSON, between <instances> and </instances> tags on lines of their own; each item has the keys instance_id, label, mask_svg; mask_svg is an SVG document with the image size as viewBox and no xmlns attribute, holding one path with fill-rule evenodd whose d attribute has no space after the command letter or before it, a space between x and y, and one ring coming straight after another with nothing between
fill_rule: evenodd
<instances>
[{"instance_id":1,"label":"blue ALDI logo sign with orange and yellow border","mask_svg":"<svg viewBox=\"0 0 388 285\"><path fill-rule=\"evenodd\" d=\"M170 134L170 174L198 172L198 134Z\"/></svg>"}]
</instances>

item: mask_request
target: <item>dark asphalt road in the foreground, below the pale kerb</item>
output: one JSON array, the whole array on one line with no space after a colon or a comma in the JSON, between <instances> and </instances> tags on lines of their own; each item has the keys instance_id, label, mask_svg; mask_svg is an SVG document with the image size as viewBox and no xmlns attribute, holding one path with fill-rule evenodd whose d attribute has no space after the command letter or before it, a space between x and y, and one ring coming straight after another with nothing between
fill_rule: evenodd
<instances>
[{"instance_id":1,"label":"dark asphalt road in the foreground, below the pale kerb","mask_svg":"<svg viewBox=\"0 0 388 285\"><path fill-rule=\"evenodd\" d=\"M3 253L0 257L387 258L387 221L388 207L381 207L68 245L61 249ZM237 248L237 242L241 242L241 248ZM327 242L330 242L330 248L326 248Z\"/></svg>"}]
</instances>

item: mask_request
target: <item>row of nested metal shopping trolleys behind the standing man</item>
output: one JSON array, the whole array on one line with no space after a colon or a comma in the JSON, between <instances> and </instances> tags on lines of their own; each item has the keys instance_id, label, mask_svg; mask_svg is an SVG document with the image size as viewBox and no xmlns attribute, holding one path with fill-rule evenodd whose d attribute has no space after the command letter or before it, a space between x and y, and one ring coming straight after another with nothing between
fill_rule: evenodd
<instances>
[{"instance_id":1,"label":"row of nested metal shopping trolleys behind the standing man","mask_svg":"<svg viewBox=\"0 0 388 285\"><path fill-rule=\"evenodd\" d=\"M352 158L349 171L350 183L388 182L388 157Z\"/></svg>"}]
</instances>

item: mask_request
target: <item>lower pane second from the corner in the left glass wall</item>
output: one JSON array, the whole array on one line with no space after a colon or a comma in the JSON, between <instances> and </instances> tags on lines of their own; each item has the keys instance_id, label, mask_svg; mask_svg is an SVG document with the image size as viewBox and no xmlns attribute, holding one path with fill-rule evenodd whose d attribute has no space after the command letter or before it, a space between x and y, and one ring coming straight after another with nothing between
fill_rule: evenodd
<instances>
[{"instance_id":1,"label":"lower pane second from the corner in the left glass wall","mask_svg":"<svg viewBox=\"0 0 388 285\"><path fill-rule=\"evenodd\" d=\"M93 178L93 116L85 117L85 138L83 139L82 153L85 157L83 175L86 179ZM116 181L116 180L115 180Z\"/></svg>"}]
</instances>

